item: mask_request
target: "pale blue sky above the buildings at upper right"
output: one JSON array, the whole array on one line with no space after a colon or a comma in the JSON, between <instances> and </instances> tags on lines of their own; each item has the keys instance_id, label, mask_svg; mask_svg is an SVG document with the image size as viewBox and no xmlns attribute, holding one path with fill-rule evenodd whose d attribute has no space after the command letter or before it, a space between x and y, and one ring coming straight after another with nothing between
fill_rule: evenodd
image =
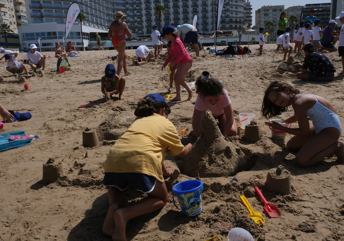
<instances>
[{"instance_id":1,"label":"pale blue sky above the buildings at upper right","mask_svg":"<svg viewBox=\"0 0 344 241\"><path fill-rule=\"evenodd\" d=\"M252 26L255 25L255 13L258 8L261 8L262 6L267 5L283 5L284 8L289 8L291 6L304 6L305 4L311 4L311 3L327 3L331 2L331 0L289 0L289 1L281 1L278 2L276 0L251 0L252 4Z\"/></svg>"}]
</instances>

